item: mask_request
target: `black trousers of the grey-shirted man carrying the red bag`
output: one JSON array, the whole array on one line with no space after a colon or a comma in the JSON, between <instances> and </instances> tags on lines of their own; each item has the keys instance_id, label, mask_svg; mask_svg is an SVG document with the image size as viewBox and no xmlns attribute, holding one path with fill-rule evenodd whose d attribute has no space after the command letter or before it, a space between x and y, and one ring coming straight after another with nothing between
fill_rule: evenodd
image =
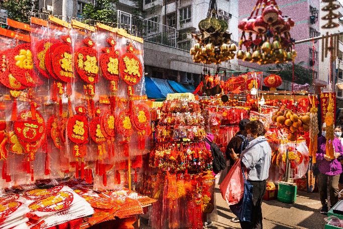
<instances>
[{"instance_id":1,"label":"black trousers of the grey-shirted man carrying the red bag","mask_svg":"<svg viewBox=\"0 0 343 229\"><path fill-rule=\"evenodd\" d=\"M262 199L266 194L267 182L264 181L249 181L252 185L252 209L251 221L241 222L242 229L262 229Z\"/></svg>"}]
</instances>

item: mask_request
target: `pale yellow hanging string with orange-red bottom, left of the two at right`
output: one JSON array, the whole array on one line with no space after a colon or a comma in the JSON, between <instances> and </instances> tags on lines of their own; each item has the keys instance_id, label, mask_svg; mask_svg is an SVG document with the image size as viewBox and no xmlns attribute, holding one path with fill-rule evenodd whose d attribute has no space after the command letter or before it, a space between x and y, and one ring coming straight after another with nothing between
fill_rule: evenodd
<instances>
[{"instance_id":1,"label":"pale yellow hanging string with orange-red bottom, left of the two at right","mask_svg":"<svg viewBox=\"0 0 343 229\"><path fill-rule=\"evenodd\" d=\"M313 96L313 103L312 103L310 112L311 112L310 123L309 123L310 145L308 147L308 155L312 157L312 163L316 163L319 129L318 129L318 117L317 117L318 108L316 107L314 96Z\"/></svg>"}]
</instances>

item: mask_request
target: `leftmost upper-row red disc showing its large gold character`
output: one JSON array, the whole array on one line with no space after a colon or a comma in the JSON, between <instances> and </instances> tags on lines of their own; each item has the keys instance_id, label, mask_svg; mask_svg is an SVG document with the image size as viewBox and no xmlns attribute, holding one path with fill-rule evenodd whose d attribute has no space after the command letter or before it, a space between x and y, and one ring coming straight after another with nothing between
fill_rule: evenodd
<instances>
[{"instance_id":1,"label":"leftmost upper-row red disc showing its large gold character","mask_svg":"<svg viewBox=\"0 0 343 229\"><path fill-rule=\"evenodd\" d=\"M36 87L43 84L33 70L31 44L20 44L8 54L8 67L13 77L26 87Z\"/></svg>"}]
</instances>

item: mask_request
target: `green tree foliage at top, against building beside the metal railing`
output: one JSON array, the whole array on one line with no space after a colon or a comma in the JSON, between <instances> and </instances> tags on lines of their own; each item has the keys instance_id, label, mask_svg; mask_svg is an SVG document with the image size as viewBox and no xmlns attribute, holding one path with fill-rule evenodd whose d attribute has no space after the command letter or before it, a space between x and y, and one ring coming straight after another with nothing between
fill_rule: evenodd
<instances>
[{"instance_id":1,"label":"green tree foliage at top, against building beside the metal railing","mask_svg":"<svg viewBox=\"0 0 343 229\"><path fill-rule=\"evenodd\" d=\"M114 5L118 2L119 0L96 0L95 5L89 3L84 6L82 16L85 19L115 22Z\"/></svg>"}]
</instances>

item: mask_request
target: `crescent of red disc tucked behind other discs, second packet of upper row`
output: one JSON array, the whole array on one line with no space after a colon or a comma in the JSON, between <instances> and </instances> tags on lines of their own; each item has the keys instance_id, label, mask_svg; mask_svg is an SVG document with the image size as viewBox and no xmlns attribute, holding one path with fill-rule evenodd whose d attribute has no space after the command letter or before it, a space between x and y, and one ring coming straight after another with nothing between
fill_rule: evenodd
<instances>
[{"instance_id":1,"label":"crescent of red disc tucked behind other discs, second packet of upper row","mask_svg":"<svg viewBox=\"0 0 343 229\"><path fill-rule=\"evenodd\" d=\"M51 78L49 77L49 71L47 69L47 66L45 64L45 56L47 54L47 51L50 49L50 47L53 44L59 43L56 39L43 39L38 41L34 45L34 49L32 50L34 52L34 63L36 65L37 70L39 73L43 75L45 78Z\"/></svg>"}]
</instances>

